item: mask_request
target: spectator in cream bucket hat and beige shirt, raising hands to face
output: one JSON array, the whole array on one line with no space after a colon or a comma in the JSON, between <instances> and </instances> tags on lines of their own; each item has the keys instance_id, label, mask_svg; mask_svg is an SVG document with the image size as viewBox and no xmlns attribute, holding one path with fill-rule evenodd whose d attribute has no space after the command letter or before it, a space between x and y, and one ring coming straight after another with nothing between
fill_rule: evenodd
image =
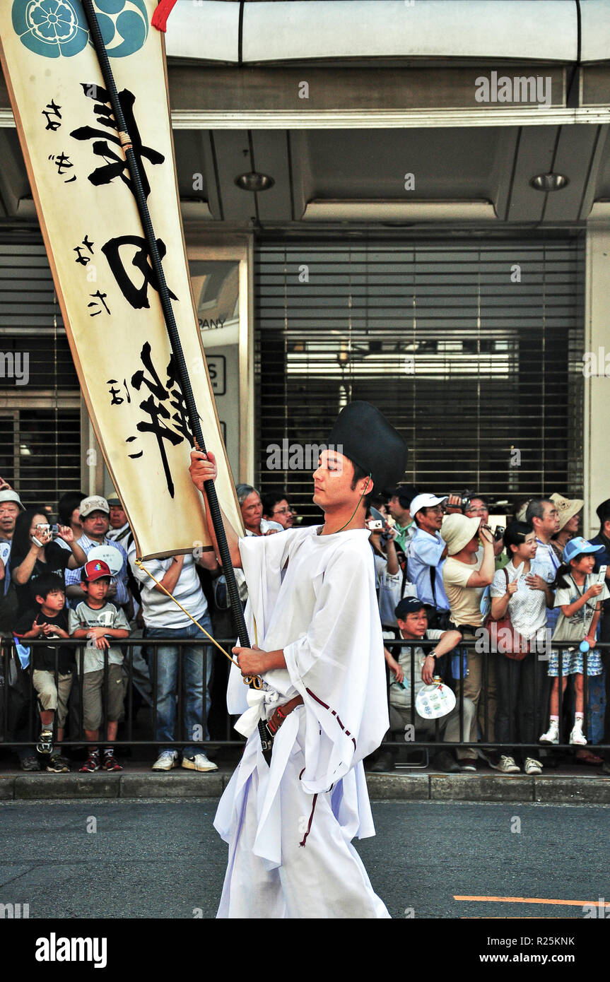
<instances>
[{"instance_id":1,"label":"spectator in cream bucket hat and beige shirt, raising hands to face","mask_svg":"<svg viewBox=\"0 0 610 982\"><path fill-rule=\"evenodd\" d=\"M495 558L493 554L493 535L491 529L481 525L480 518L468 518L466 515L448 515L443 521L442 536L447 543L447 559L443 567L443 585L451 608L451 620L466 640L479 636L477 628L482 627L481 598L485 588L491 583L495 573ZM479 547L479 539L482 549ZM478 710L479 725L483 736L493 742L493 723L496 711L496 682L493 656L484 656L473 647L468 649L466 678L458 678L456 694L460 697L460 689L464 686L464 697L471 699L474 706L479 706L479 698L483 691L483 658L487 657L487 698L481 700ZM458 660L459 668L455 673L458 677L464 675L462 657ZM486 713L484 708L486 705ZM481 712L482 711L482 712ZM484 717L487 717L486 719ZM482 717L482 718L481 718ZM476 717L471 723L470 734L465 739L476 742ZM458 763L464 771L476 770L476 750L471 747L460 747L456 751Z\"/></svg>"}]
</instances>

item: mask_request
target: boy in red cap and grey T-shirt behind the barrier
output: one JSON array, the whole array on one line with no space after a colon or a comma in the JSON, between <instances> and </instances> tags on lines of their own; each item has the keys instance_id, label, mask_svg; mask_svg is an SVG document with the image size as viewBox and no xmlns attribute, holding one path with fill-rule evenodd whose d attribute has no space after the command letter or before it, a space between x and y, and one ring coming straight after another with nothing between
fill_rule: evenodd
<instances>
[{"instance_id":1,"label":"boy in red cap and grey T-shirt behind the barrier","mask_svg":"<svg viewBox=\"0 0 610 982\"><path fill-rule=\"evenodd\" d=\"M129 637L130 626L123 610L107 603L106 595L112 573L106 563L91 560L83 566L81 586L86 598L76 611L70 611L70 633L73 637L89 638L84 657L79 656L78 669L83 672L83 727L87 740L98 739L102 719L102 691L104 689L104 650L108 652L108 691L105 716L107 741L112 744L117 736L118 721L123 711L123 653L108 638ZM122 771L115 759L114 748L107 745L100 765L99 749L89 747L89 757L81 771Z\"/></svg>"}]
</instances>

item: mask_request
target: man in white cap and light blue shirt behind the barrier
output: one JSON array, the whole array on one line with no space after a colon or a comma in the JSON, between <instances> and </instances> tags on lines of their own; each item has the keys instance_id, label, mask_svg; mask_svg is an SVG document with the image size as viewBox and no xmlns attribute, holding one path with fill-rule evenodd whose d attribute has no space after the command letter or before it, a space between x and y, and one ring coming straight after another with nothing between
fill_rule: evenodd
<instances>
[{"instance_id":1,"label":"man in white cap and light blue shirt behind the barrier","mask_svg":"<svg viewBox=\"0 0 610 982\"><path fill-rule=\"evenodd\" d=\"M433 494L418 494L410 512L416 523L416 534L409 547L407 571L416 585L419 600L436 611L431 627L446 628L449 620L449 601L443 588L443 563L447 550L440 535L443 523L443 502Z\"/></svg>"}]
</instances>

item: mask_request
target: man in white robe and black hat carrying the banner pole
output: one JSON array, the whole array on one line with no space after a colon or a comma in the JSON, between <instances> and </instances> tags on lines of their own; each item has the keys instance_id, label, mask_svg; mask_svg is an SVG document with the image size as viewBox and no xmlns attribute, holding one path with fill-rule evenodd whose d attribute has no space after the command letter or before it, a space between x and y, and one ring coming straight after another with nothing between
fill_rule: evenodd
<instances>
[{"instance_id":1,"label":"man in white robe and black hat carrying the banner pole","mask_svg":"<svg viewBox=\"0 0 610 982\"><path fill-rule=\"evenodd\" d=\"M343 410L330 442L345 455L323 451L313 475L322 526L238 538L223 515L257 646L233 649L228 708L248 742L214 822L229 844L218 917L389 917L352 846L374 835L362 759L388 728L364 496L396 483L407 449L366 403ZM213 455L194 451L195 486L215 473ZM281 706L269 766L257 723Z\"/></svg>"}]
</instances>

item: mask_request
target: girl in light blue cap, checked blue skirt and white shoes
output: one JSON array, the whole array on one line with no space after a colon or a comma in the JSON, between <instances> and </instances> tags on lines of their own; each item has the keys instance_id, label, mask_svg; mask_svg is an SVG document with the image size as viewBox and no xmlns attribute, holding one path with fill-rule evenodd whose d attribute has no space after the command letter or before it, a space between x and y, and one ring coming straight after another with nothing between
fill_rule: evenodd
<instances>
[{"instance_id":1,"label":"girl in light blue cap, checked blue skirt and white shoes","mask_svg":"<svg viewBox=\"0 0 610 982\"><path fill-rule=\"evenodd\" d=\"M559 657L561 657L562 692L565 691L567 676L574 676L576 689L575 721L570 742L584 745L586 737L582 733L583 719L583 652L581 642L587 641L590 648L587 652L587 676L601 675L601 657L595 651L595 631L599 621L602 601L610 593L605 583L597 583L593 575L595 561L592 553L603 549L603 546L591 545L582 536L571 539L564 549L564 564L559 567L553 583L556 588L555 607L561 608L557 625L551 638L552 650L548 666L548 674L555 679L551 691L550 726L547 733L540 736L541 743L559 742ZM562 645L570 644L563 648ZM561 655L558 653L558 648Z\"/></svg>"}]
</instances>

